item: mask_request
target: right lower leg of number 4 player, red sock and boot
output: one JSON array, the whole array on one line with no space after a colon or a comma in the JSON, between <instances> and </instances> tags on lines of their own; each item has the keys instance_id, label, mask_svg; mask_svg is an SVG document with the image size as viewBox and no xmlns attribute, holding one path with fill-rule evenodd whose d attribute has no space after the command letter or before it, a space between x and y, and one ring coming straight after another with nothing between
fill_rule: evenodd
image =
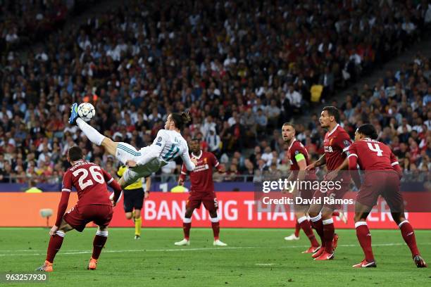
<instances>
[{"instance_id":1,"label":"right lower leg of number 4 player, red sock and boot","mask_svg":"<svg viewBox=\"0 0 431 287\"><path fill-rule=\"evenodd\" d=\"M410 248L411 255L413 257L413 261L416 264L416 267L423 268L427 267L425 260L420 256L418 245L416 244L416 236L413 227L410 222L406 220L404 216L404 212L392 212L392 218L398 224L399 230L401 231L401 235L404 238L404 241Z\"/></svg>"}]
</instances>

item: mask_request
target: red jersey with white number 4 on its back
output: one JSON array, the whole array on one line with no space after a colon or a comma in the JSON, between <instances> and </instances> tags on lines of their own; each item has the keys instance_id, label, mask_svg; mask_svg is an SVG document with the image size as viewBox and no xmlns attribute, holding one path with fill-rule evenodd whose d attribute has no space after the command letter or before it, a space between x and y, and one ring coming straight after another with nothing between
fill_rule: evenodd
<instances>
[{"instance_id":1,"label":"red jersey with white number 4 on its back","mask_svg":"<svg viewBox=\"0 0 431 287\"><path fill-rule=\"evenodd\" d=\"M398 165L389 146L374 139L363 139L349 146L349 158L356 156L361 170L395 170Z\"/></svg>"}]
</instances>

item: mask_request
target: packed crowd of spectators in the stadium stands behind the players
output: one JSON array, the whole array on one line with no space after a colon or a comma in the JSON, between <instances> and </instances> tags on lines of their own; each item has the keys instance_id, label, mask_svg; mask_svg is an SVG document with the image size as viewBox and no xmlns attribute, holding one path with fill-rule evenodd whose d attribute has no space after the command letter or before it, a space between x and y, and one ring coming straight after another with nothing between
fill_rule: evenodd
<instances>
[{"instance_id":1,"label":"packed crowd of spectators in the stadium stands behind the players","mask_svg":"<svg viewBox=\"0 0 431 287\"><path fill-rule=\"evenodd\" d=\"M75 101L94 104L96 129L137 148L151 144L170 112L189 108L193 120L183 134L218 155L224 180L282 174L288 165L280 126L306 113L311 86L321 84L325 100L408 49L431 22L428 1L166 2L132 1L72 34L49 34L22 57L5 50L0 181L58 182L75 144L115 173L117 162L68 125ZM10 31L26 37L18 12L10 17L17 23L0 26L6 42ZM430 73L430 60L418 54L347 95L334 103L342 126L353 136L372 122L404 169L429 170ZM310 118L297 138L315 158L325 131L318 115ZM245 149L254 151L246 157ZM178 167L162 170L172 172Z\"/></svg>"}]
</instances>

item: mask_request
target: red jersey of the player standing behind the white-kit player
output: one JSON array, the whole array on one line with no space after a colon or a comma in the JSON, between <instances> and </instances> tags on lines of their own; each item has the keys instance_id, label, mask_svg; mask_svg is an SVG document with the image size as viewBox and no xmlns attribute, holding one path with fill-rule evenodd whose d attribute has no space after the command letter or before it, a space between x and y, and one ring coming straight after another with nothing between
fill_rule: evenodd
<instances>
[{"instance_id":1,"label":"red jersey of the player standing behind the white-kit player","mask_svg":"<svg viewBox=\"0 0 431 287\"><path fill-rule=\"evenodd\" d=\"M214 195L213 167L220 168L220 163L213 153L201 151L201 155L190 155L191 158L196 158L197 165L192 172L189 172L192 186L190 191L201 193L203 195ZM180 179L185 179L187 169L182 164Z\"/></svg>"}]
</instances>

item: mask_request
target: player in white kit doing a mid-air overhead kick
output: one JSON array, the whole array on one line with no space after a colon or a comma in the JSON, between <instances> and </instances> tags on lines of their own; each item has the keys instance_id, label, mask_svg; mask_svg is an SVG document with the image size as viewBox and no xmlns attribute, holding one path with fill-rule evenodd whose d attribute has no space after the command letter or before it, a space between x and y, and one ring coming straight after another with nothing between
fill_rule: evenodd
<instances>
[{"instance_id":1,"label":"player in white kit doing a mid-air overhead kick","mask_svg":"<svg viewBox=\"0 0 431 287\"><path fill-rule=\"evenodd\" d=\"M187 170L192 171L195 159L190 159L187 141L181 136L181 129L190 121L187 113L171 113L165 122L165 129L158 131L151 146L141 148L123 142L116 142L100 134L94 127L82 120L77 114L77 103L73 103L69 123L76 124L87 138L97 146L103 146L107 153L114 155L129 167L118 184L122 188L132 184L140 177L148 177L168 162L180 156Z\"/></svg>"}]
</instances>

